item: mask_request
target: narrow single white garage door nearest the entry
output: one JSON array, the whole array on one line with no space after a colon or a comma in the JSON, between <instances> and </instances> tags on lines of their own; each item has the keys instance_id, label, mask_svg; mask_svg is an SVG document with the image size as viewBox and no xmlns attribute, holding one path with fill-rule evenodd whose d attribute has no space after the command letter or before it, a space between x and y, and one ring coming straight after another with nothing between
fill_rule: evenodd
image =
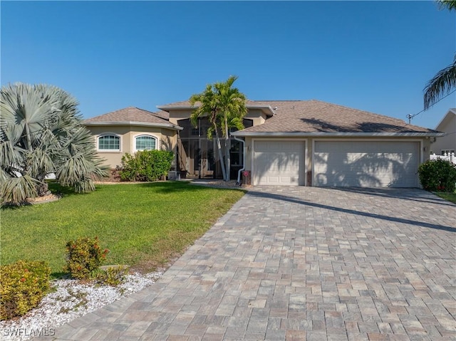
<instances>
[{"instance_id":1,"label":"narrow single white garage door nearest the entry","mask_svg":"<svg viewBox=\"0 0 456 341\"><path fill-rule=\"evenodd\" d=\"M304 141L254 141L254 184L304 185Z\"/></svg>"}]
</instances>

